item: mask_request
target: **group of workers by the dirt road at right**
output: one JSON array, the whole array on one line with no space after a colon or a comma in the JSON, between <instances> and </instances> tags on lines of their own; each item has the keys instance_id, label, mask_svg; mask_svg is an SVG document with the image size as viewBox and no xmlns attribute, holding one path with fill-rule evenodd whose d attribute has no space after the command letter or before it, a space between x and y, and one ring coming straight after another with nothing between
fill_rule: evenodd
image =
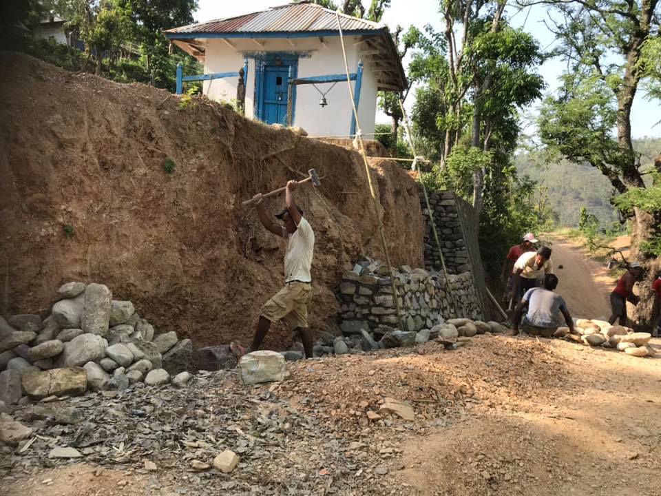
<instances>
[{"instance_id":1,"label":"group of workers by the dirt road at right","mask_svg":"<svg viewBox=\"0 0 661 496\"><path fill-rule=\"evenodd\" d=\"M503 265L503 280L507 285L505 300L509 302L514 331L550 337L563 325L563 320L573 331L574 321L567 304L555 293L558 276L553 273L552 250L549 247L536 249L536 243L538 240L534 234L525 234L520 245L510 248ZM634 305L640 302L640 296L633 293L633 286L642 280L643 273L638 262L631 262L627 272L618 279L610 296L611 316L608 321L611 324L619 320L620 325L628 325L627 301ZM661 309L661 276L656 278L651 289L655 293L657 309ZM661 319L658 322L656 334L661 331Z\"/></svg>"}]
</instances>

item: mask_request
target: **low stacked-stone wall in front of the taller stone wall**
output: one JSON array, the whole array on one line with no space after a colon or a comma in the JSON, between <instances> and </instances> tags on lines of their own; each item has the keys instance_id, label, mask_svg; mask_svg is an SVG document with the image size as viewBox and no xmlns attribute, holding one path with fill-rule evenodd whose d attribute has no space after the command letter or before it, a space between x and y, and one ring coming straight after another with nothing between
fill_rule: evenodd
<instances>
[{"instance_id":1,"label":"low stacked-stone wall in front of the taller stone wall","mask_svg":"<svg viewBox=\"0 0 661 496\"><path fill-rule=\"evenodd\" d=\"M391 273L399 298L401 325L392 296ZM340 327L345 333L365 328L377 335L398 328L419 331L441 323L443 317L479 319L482 313L470 272L450 275L448 281L439 273L411 269L408 265L390 269L369 259L357 262L353 270L344 272L339 298L342 300Z\"/></svg>"}]
</instances>

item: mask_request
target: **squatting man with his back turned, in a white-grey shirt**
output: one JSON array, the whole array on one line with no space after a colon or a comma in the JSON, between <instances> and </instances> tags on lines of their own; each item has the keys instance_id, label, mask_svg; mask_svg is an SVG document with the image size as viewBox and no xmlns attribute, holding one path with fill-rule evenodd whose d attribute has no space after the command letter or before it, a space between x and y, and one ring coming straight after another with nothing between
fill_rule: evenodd
<instances>
[{"instance_id":1,"label":"squatting man with his back turned, in a white-grey shirt","mask_svg":"<svg viewBox=\"0 0 661 496\"><path fill-rule=\"evenodd\" d=\"M569 331L574 331L574 320L571 320L567 304L562 296L554 293L558 287L558 276L547 274L544 276L542 287L528 289L514 309L514 332L521 334L521 330L529 335L541 335L550 338L563 322L560 314L565 318ZM527 312L521 322L521 313L527 307Z\"/></svg>"}]
</instances>

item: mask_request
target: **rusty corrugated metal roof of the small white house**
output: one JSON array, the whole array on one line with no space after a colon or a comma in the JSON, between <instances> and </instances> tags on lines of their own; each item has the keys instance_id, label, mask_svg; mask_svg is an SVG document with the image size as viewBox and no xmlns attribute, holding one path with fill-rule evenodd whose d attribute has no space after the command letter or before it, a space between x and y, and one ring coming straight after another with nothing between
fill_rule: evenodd
<instances>
[{"instance_id":1,"label":"rusty corrugated metal roof of the small white house","mask_svg":"<svg viewBox=\"0 0 661 496\"><path fill-rule=\"evenodd\" d=\"M379 31L383 26L340 14L342 30ZM189 24L165 31L172 34L183 33L259 33L259 32L314 32L337 30L337 17L314 3L288 3L262 12L253 12L229 19L216 19L204 23Z\"/></svg>"}]
</instances>

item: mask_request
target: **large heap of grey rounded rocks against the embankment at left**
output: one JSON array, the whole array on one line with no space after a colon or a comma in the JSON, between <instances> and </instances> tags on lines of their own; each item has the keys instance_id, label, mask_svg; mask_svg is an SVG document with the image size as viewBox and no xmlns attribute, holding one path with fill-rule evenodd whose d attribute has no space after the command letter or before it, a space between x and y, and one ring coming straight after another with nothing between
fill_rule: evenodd
<instances>
[{"instance_id":1,"label":"large heap of grey rounded rocks against the embankment at left","mask_svg":"<svg viewBox=\"0 0 661 496\"><path fill-rule=\"evenodd\" d=\"M113 300L105 285L69 282L57 297L44 320L0 317L0 401L122 391L143 381L183 385L191 378L191 341L175 332L155 336L132 302Z\"/></svg>"}]
</instances>

